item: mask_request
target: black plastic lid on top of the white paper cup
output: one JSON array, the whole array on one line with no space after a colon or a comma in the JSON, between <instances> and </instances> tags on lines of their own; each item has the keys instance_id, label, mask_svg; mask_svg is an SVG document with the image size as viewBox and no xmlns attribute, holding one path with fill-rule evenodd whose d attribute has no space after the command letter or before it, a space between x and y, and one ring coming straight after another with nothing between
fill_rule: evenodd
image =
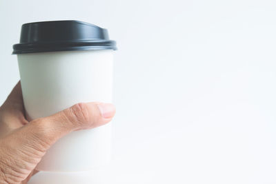
<instances>
[{"instance_id":1,"label":"black plastic lid on top of the white paper cup","mask_svg":"<svg viewBox=\"0 0 276 184\"><path fill-rule=\"evenodd\" d=\"M25 23L12 54L67 50L117 50L108 30L83 21Z\"/></svg>"}]
</instances>

